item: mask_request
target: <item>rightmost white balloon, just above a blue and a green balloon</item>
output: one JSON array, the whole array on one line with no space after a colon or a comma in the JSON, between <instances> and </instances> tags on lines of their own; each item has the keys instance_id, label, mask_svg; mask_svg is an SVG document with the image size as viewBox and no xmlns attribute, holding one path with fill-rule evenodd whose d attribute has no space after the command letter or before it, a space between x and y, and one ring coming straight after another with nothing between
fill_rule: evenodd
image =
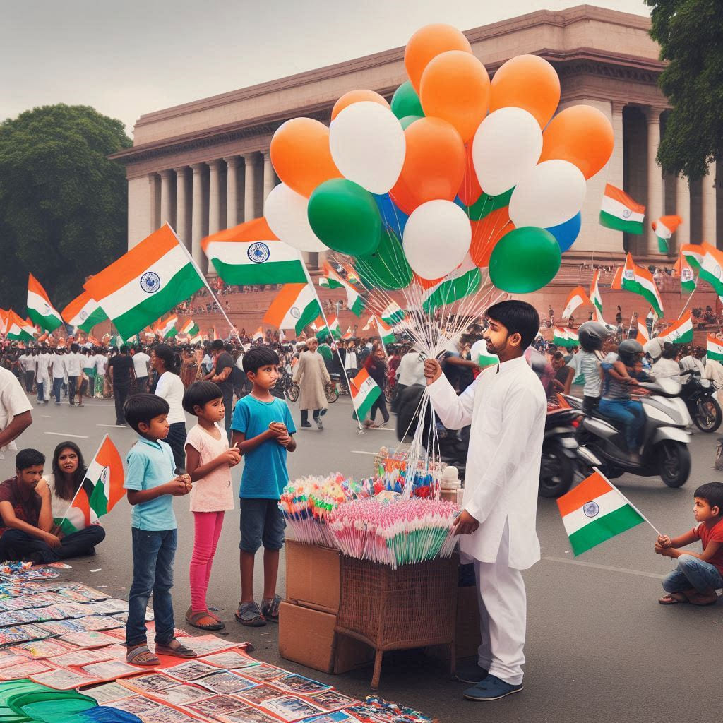
<instances>
[{"instance_id":1,"label":"rightmost white balloon, just above a blue and a green balloon","mask_svg":"<svg viewBox=\"0 0 723 723\"><path fill-rule=\"evenodd\" d=\"M583 207L587 184L568 161L542 161L520 181L510 198L510 221L517 228L551 228L568 221Z\"/></svg>"}]
</instances>

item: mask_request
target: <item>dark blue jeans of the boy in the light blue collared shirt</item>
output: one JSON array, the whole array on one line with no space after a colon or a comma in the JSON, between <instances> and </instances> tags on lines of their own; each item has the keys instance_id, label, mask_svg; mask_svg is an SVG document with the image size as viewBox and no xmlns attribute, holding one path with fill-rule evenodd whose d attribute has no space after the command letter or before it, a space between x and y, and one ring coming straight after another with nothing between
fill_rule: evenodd
<instances>
[{"instance_id":1,"label":"dark blue jeans of the boy in the light blue collared shirt","mask_svg":"<svg viewBox=\"0 0 723 723\"><path fill-rule=\"evenodd\" d=\"M126 644L145 643L145 609L153 592L155 642L168 645L174 638L174 586L176 530L150 531L131 528L133 541L133 583L128 596Z\"/></svg>"}]
</instances>

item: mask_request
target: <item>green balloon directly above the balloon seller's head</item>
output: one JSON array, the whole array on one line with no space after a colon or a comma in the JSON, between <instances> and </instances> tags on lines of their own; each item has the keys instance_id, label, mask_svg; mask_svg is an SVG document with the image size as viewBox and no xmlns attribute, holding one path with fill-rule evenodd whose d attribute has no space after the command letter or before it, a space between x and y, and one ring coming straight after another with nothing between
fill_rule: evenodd
<instances>
[{"instance_id":1,"label":"green balloon directly above the balloon seller's head","mask_svg":"<svg viewBox=\"0 0 723 723\"><path fill-rule=\"evenodd\" d=\"M536 226L515 228L502 236L489 257L489 278L501 291L529 294L555 278L560 244Z\"/></svg>"}]
</instances>

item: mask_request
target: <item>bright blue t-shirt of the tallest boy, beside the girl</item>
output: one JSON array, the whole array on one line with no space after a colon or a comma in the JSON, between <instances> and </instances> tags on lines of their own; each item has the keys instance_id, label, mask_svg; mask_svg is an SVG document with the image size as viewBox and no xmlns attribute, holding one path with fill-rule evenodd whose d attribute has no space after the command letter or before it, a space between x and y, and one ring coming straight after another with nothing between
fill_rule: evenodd
<instances>
[{"instance_id":1,"label":"bright blue t-shirt of the tallest boy, beside the girl","mask_svg":"<svg viewBox=\"0 0 723 723\"><path fill-rule=\"evenodd\" d=\"M289 434L296 432L291 412L283 399L262 402L251 394L239 399L231 419L231 431L242 432L247 440L266 432L271 422L286 424ZM276 440L267 440L244 455L239 497L278 500L288 484L286 448Z\"/></svg>"}]
</instances>

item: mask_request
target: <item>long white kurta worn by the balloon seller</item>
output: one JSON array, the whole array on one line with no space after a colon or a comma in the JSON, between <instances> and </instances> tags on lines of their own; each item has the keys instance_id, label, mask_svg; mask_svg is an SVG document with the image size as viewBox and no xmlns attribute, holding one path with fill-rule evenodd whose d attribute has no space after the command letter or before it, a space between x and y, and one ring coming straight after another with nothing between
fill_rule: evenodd
<instances>
[{"instance_id":1,"label":"long white kurta worn by the balloon seller","mask_svg":"<svg viewBox=\"0 0 723 723\"><path fill-rule=\"evenodd\" d=\"M485 369L457 396L444 375L429 385L442 424L471 424L463 508L479 522L461 536L462 552L495 562L508 523L510 568L540 559L535 530L547 399L524 357Z\"/></svg>"}]
</instances>

